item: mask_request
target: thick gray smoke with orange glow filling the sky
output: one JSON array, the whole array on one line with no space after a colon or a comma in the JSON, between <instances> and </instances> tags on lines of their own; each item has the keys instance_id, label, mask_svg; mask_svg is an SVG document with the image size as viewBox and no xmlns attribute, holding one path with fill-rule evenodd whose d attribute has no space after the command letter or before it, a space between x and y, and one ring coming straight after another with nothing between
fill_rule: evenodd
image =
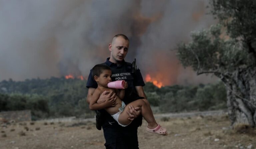
<instances>
[{"instance_id":1,"label":"thick gray smoke with orange glow filling the sky","mask_svg":"<svg viewBox=\"0 0 256 149\"><path fill-rule=\"evenodd\" d=\"M0 0L0 80L84 75L109 56L115 34L130 38L126 61L168 84L209 82L175 51L207 28L206 0ZM203 77L203 79L202 79ZM200 79L200 81L199 81ZM214 79L213 79L214 80Z\"/></svg>"}]
</instances>

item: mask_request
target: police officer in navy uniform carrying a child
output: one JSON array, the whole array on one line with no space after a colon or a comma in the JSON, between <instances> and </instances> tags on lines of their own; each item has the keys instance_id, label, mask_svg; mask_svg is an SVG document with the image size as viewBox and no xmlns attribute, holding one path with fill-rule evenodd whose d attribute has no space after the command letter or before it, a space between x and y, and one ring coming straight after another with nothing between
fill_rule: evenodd
<instances>
[{"instance_id":1,"label":"police officer in navy uniform carrying a child","mask_svg":"<svg viewBox=\"0 0 256 149\"><path fill-rule=\"evenodd\" d=\"M123 34L115 35L112 43L109 44L110 58L107 58L107 61L103 63L111 68L112 81L125 80L128 82L128 88L125 90L123 99L125 104L146 98L142 87L145 83L140 70L134 68L131 63L124 61L128 48L129 39ZM97 88L97 83L93 80L91 72L88 76L86 87L89 88L87 102L90 103L92 94ZM113 92L104 91L97 102L101 103L114 97L115 94ZM137 129L142 123L141 108L130 106L129 109L127 114L130 116L129 119L133 121L126 127L120 126L104 109L96 111L96 127L99 130L101 126L103 128L106 149L138 149Z\"/></svg>"}]
</instances>

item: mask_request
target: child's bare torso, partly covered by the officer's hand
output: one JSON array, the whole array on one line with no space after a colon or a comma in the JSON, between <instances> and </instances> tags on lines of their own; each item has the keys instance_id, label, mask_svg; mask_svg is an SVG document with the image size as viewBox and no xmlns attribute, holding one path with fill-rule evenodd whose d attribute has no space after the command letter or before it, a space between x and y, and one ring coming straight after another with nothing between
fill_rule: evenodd
<instances>
[{"instance_id":1,"label":"child's bare torso, partly covered by the officer's hand","mask_svg":"<svg viewBox=\"0 0 256 149\"><path fill-rule=\"evenodd\" d=\"M107 91L113 91L114 93L116 93L115 89L112 89L112 88L97 88L98 90L100 90L100 94L102 92L104 92L105 90ZM105 110L110 114L110 115L113 115L117 112L119 112L119 108L122 106L122 100L116 95L116 105L115 106L111 106L111 107L107 107L105 108Z\"/></svg>"}]
</instances>

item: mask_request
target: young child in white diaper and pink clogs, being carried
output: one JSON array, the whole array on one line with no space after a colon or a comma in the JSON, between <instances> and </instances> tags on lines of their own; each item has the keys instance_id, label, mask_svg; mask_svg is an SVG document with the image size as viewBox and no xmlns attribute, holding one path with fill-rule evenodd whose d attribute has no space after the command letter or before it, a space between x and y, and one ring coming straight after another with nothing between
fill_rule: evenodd
<instances>
[{"instance_id":1,"label":"young child in white diaper and pink clogs, being carried","mask_svg":"<svg viewBox=\"0 0 256 149\"><path fill-rule=\"evenodd\" d=\"M111 82L111 69L104 65L99 64L95 65L92 69L92 76L93 79L97 82L98 87L95 89L92 99L90 102L90 109L91 110L99 110L105 109L117 122L119 125L125 127L131 123L129 120L129 115L127 111L129 110L129 106L132 105L134 107L141 107L141 114L144 119L148 122L148 127L146 128L147 131L151 133L157 133L160 135L168 135L165 128L162 128L159 124L156 123L154 115L152 113L151 107L149 102L146 99L138 99L133 102L130 102L125 105L125 103L121 100L124 98L125 90L121 89L112 89L108 88L108 83ZM127 82L124 83L124 88L127 88ZM101 93L103 91L114 91L116 93L116 100L106 100L103 103L97 103Z\"/></svg>"}]
</instances>

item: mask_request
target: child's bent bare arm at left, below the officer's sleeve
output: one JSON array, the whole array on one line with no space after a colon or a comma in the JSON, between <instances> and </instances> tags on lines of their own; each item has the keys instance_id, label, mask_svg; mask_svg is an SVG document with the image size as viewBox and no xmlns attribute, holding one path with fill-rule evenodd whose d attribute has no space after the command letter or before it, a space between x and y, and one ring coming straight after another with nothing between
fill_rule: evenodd
<instances>
[{"instance_id":1,"label":"child's bent bare arm at left, below the officer's sleeve","mask_svg":"<svg viewBox=\"0 0 256 149\"><path fill-rule=\"evenodd\" d=\"M110 107L110 106L114 105L115 100L110 99L110 98L108 100L102 102L102 103L97 103L97 100L100 97L100 93L101 93L101 91L99 89L95 89L94 93L92 94L91 101L90 101L90 104L89 104L89 108L91 110L104 109L106 107Z\"/></svg>"}]
</instances>

